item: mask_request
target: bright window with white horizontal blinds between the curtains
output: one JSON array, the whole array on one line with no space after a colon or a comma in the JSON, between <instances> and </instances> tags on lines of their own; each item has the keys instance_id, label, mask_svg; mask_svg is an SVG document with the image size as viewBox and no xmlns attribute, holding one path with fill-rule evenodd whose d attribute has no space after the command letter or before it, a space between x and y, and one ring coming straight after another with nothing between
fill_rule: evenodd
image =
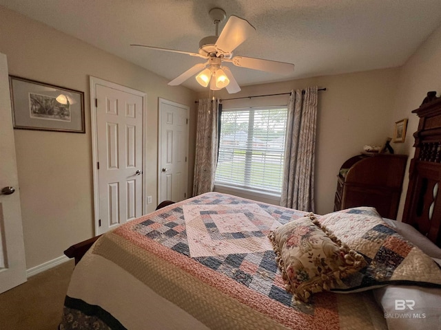
<instances>
[{"instance_id":1,"label":"bright window with white horizontal blinds between the curtains","mask_svg":"<svg viewBox=\"0 0 441 330\"><path fill-rule=\"evenodd\" d=\"M280 195L287 107L223 109L215 184Z\"/></svg>"}]
</instances>

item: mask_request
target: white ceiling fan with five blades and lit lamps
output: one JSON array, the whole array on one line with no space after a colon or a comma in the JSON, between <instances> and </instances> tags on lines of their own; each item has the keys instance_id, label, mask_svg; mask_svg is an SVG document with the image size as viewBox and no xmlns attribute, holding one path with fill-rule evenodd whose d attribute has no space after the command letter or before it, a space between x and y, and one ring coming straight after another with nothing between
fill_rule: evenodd
<instances>
[{"instance_id":1,"label":"white ceiling fan with five blades and lit lamps","mask_svg":"<svg viewBox=\"0 0 441 330\"><path fill-rule=\"evenodd\" d=\"M240 91L240 87L234 79L229 67L223 65L224 62L233 63L237 67L246 67L276 74L289 74L294 72L294 64L263 60L261 58L233 56L233 51L243 43L249 36L256 32L256 29L247 20L237 16L230 16L220 35L218 35L219 23L226 18L225 11L220 8L213 8L209 11L209 17L213 19L216 25L216 35L206 36L199 41L198 53L184 52L181 50L170 50L167 48L153 47L148 45L131 46L146 47L152 50L161 50L164 52L174 52L187 54L189 56L201 57L207 60L205 63L198 63L189 68L180 76L170 81L168 85L176 86L183 83L191 76L196 76L196 80L203 87L212 90L226 88L229 94Z\"/></svg>"}]
</instances>

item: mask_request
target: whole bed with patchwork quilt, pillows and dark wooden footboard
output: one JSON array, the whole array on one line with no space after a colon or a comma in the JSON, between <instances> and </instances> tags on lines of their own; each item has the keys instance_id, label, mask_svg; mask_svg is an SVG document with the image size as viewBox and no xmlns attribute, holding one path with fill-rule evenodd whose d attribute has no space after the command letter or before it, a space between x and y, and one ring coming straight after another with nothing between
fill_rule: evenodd
<instances>
[{"instance_id":1,"label":"whole bed with patchwork quilt, pillows and dark wooden footboard","mask_svg":"<svg viewBox=\"0 0 441 330\"><path fill-rule=\"evenodd\" d=\"M441 250L414 227L218 192L165 203L66 251L59 329L441 329Z\"/></svg>"}]
</instances>

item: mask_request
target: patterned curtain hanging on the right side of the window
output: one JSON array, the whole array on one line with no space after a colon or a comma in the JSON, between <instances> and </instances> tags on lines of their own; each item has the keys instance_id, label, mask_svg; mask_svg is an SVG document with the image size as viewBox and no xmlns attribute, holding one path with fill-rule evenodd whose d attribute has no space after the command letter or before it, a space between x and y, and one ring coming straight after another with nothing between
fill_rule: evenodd
<instances>
[{"instance_id":1,"label":"patterned curtain hanging on the right side of the window","mask_svg":"<svg viewBox=\"0 0 441 330\"><path fill-rule=\"evenodd\" d=\"M314 212L318 88L291 91L280 206Z\"/></svg>"}]
</instances>

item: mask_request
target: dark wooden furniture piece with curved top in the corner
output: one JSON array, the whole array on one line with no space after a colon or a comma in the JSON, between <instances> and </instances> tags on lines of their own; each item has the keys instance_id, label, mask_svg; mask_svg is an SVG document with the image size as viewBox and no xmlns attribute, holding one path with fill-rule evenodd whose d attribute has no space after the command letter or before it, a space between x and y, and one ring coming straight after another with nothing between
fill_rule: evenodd
<instances>
[{"instance_id":1,"label":"dark wooden furniture piece with curved top in the corner","mask_svg":"<svg viewBox=\"0 0 441 330\"><path fill-rule=\"evenodd\" d=\"M337 176L334 211L372 206L396 219L407 155L360 154L347 159Z\"/></svg>"}]
</instances>

